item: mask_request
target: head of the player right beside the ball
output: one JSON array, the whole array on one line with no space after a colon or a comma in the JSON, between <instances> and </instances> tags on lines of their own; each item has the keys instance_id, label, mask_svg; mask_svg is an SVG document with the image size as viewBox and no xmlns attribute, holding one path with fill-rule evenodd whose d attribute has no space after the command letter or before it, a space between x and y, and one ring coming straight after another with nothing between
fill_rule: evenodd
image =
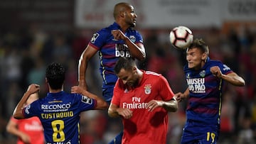
<instances>
[{"instance_id":1,"label":"head of the player right beside the ball","mask_svg":"<svg viewBox=\"0 0 256 144\"><path fill-rule=\"evenodd\" d=\"M186 50L188 68L201 69L209 55L208 45L202 39L195 39Z\"/></svg>"}]
</instances>

